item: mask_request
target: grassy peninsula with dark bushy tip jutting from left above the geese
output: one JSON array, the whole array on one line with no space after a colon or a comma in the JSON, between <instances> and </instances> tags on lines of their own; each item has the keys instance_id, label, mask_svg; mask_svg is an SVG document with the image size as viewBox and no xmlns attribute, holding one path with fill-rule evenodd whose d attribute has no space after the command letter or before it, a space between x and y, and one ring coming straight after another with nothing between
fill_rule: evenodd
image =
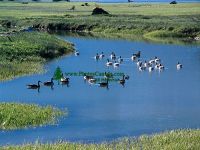
<instances>
[{"instance_id":1,"label":"grassy peninsula with dark bushy tip jutting from left above the geese","mask_svg":"<svg viewBox=\"0 0 200 150\"><path fill-rule=\"evenodd\" d=\"M73 44L43 32L3 34L0 36L0 81L42 72L45 62L73 50Z\"/></svg>"}]
</instances>

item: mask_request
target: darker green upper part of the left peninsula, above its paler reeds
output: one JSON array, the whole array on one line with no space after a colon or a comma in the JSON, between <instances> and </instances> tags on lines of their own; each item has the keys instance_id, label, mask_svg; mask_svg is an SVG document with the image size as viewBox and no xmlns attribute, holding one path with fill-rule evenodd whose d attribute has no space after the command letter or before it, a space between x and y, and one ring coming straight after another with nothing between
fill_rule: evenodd
<instances>
[{"instance_id":1,"label":"darker green upper part of the left peninsula, above its paler reeds","mask_svg":"<svg viewBox=\"0 0 200 150\"><path fill-rule=\"evenodd\" d=\"M9 61L52 59L73 51L72 44L40 32L22 32L0 37L0 43L0 59Z\"/></svg>"}]
</instances>

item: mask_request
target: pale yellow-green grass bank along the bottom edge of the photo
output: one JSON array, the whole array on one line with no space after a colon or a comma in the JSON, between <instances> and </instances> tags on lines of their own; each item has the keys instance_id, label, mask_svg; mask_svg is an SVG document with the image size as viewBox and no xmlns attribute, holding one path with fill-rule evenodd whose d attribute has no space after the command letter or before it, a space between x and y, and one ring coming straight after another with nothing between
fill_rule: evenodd
<instances>
[{"instance_id":1,"label":"pale yellow-green grass bank along the bottom edge of the photo","mask_svg":"<svg viewBox=\"0 0 200 150\"><path fill-rule=\"evenodd\" d=\"M111 143L79 144L59 142L55 144L27 144L22 146L6 146L9 150L197 150L200 149L200 130L177 130L153 136L124 138Z\"/></svg>"}]
</instances>

